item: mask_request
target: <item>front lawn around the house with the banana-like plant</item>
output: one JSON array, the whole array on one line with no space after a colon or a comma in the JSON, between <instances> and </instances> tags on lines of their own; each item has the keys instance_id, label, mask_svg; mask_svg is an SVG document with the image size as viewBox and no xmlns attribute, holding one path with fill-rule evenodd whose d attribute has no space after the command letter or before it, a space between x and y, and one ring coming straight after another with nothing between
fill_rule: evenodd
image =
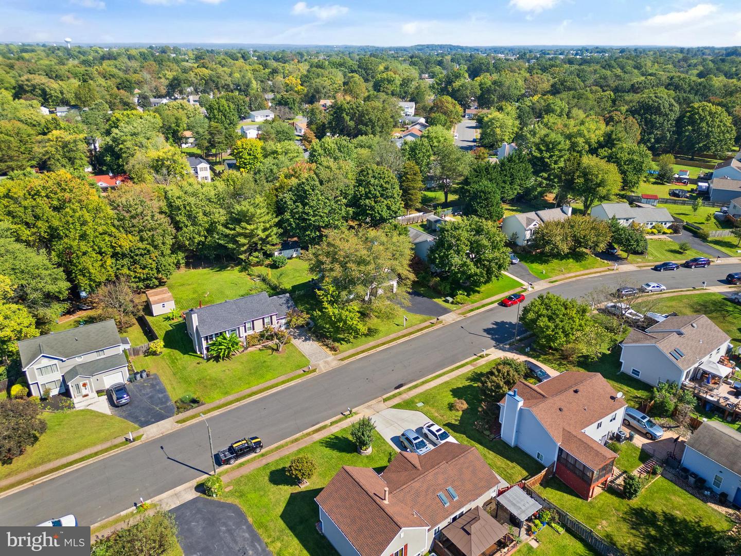
<instances>
[{"instance_id":1,"label":"front lawn around the house with the banana-like plant","mask_svg":"<svg viewBox=\"0 0 741 556\"><path fill-rule=\"evenodd\" d=\"M258 349L227 361L205 361L194 352L184 321L174 325L162 321L162 325L169 328L163 337L167 347L162 355L142 355L132 362L138 370L156 372L173 400L191 395L209 403L309 364L292 344L282 354Z\"/></svg>"}]
</instances>

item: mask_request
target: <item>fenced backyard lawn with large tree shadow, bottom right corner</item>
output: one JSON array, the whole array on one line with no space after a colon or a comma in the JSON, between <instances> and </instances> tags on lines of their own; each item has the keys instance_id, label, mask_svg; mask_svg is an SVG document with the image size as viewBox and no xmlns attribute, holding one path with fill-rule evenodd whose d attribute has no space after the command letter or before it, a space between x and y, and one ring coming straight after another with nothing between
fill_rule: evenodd
<instances>
[{"instance_id":1,"label":"fenced backyard lawn with large tree shadow, bottom right corner","mask_svg":"<svg viewBox=\"0 0 741 556\"><path fill-rule=\"evenodd\" d=\"M536 490L631 556L653 555L657 546L665 554L697 555L709 536L733 525L665 478L658 478L634 500L625 500L613 490L582 500L556 478Z\"/></svg>"}]
</instances>

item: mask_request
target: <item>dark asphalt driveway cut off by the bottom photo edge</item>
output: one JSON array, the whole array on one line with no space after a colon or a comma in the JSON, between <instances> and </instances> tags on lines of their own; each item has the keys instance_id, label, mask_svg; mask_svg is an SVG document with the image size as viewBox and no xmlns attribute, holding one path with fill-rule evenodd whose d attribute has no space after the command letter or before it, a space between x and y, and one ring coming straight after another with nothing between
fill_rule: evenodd
<instances>
[{"instance_id":1,"label":"dark asphalt driveway cut off by the bottom photo edge","mask_svg":"<svg viewBox=\"0 0 741 556\"><path fill-rule=\"evenodd\" d=\"M242 509L220 500L193 498L170 510L184 556L272 556Z\"/></svg>"}]
</instances>

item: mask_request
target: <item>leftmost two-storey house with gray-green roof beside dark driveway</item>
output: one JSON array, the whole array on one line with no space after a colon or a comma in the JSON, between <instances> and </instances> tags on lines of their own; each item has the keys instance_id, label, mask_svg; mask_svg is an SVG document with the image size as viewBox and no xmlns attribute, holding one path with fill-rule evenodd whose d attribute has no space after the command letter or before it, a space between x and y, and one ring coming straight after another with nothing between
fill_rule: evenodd
<instances>
[{"instance_id":1,"label":"leftmost two-storey house with gray-green roof beside dark driveway","mask_svg":"<svg viewBox=\"0 0 741 556\"><path fill-rule=\"evenodd\" d=\"M97 401L96 392L127 381L130 346L110 320L19 341L18 351L31 395L67 392L79 409Z\"/></svg>"}]
</instances>

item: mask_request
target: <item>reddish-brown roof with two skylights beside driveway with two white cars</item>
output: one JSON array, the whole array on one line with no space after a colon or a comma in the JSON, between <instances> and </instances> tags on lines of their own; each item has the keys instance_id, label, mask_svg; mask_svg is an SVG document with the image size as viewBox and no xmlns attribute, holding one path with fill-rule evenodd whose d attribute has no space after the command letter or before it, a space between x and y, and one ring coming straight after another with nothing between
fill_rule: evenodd
<instances>
[{"instance_id":1,"label":"reddish-brown roof with two skylights beside driveway with two white cars","mask_svg":"<svg viewBox=\"0 0 741 556\"><path fill-rule=\"evenodd\" d=\"M343 466L316 502L362 556L379 556L400 529L436 526L500 482L473 446L446 442L421 456L400 452L381 475ZM438 492L445 493L448 506Z\"/></svg>"}]
</instances>

